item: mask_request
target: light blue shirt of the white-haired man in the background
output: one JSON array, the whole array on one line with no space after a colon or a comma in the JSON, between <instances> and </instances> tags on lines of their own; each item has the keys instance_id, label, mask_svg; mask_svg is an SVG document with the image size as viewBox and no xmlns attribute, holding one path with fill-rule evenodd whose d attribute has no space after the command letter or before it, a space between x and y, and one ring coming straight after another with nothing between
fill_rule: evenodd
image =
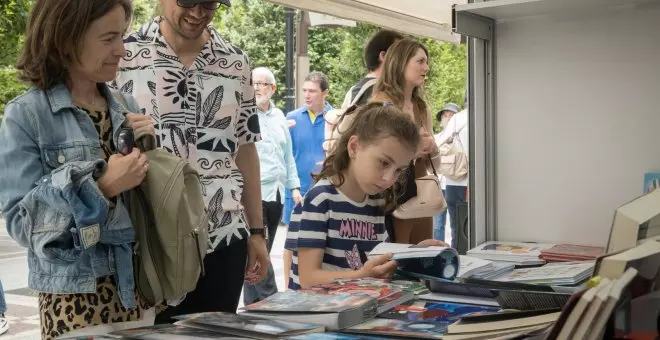
<instances>
[{"instance_id":1,"label":"light blue shirt of the white-haired man in the background","mask_svg":"<svg viewBox=\"0 0 660 340\"><path fill-rule=\"evenodd\" d=\"M257 142L259 164L261 166L261 199L266 202L284 202L284 188L300 187L296 161L293 158L291 135L284 113L270 102L270 110L259 113L261 141Z\"/></svg>"}]
</instances>

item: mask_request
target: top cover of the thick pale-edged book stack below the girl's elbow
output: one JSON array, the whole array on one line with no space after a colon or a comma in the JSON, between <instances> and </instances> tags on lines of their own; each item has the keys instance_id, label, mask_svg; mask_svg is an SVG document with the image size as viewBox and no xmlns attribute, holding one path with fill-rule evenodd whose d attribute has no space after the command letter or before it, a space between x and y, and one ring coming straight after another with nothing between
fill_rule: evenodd
<instances>
[{"instance_id":1,"label":"top cover of the thick pale-edged book stack below the girl's elbow","mask_svg":"<svg viewBox=\"0 0 660 340\"><path fill-rule=\"evenodd\" d=\"M374 303L367 295L318 294L295 291L279 292L265 300L245 306L247 311L338 313Z\"/></svg>"}]
</instances>

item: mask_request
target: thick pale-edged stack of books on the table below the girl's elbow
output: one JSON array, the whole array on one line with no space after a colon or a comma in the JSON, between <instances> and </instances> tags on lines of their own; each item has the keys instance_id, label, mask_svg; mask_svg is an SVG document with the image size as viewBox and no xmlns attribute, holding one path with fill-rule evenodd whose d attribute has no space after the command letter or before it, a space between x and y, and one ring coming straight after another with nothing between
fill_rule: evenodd
<instances>
[{"instance_id":1,"label":"thick pale-edged stack of books on the table below the girl's elbow","mask_svg":"<svg viewBox=\"0 0 660 340\"><path fill-rule=\"evenodd\" d=\"M378 301L368 295L318 294L285 291L243 307L242 315L303 322L337 330L376 316Z\"/></svg>"}]
</instances>

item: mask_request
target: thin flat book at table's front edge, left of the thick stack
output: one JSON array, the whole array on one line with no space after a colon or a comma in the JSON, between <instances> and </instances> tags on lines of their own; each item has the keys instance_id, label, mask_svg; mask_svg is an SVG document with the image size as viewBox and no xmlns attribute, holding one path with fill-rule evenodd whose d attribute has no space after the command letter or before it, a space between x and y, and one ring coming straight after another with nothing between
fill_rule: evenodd
<instances>
[{"instance_id":1,"label":"thin flat book at table's front edge, left of the thick stack","mask_svg":"<svg viewBox=\"0 0 660 340\"><path fill-rule=\"evenodd\" d=\"M282 339L293 335L325 331L322 326L262 320L242 314L223 312L187 314L174 318L180 320L176 323L177 325L197 329L200 332L216 332L216 335L222 333L258 339Z\"/></svg>"}]
</instances>

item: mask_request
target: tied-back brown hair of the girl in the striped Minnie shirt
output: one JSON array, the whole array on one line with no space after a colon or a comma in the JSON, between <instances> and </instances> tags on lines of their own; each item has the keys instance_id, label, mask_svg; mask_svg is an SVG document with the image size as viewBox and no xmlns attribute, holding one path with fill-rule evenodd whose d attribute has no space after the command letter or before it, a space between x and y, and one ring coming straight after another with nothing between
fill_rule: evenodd
<instances>
[{"instance_id":1,"label":"tied-back brown hair of the girl in the striped Minnie shirt","mask_svg":"<svg viewBox=\"0 0 660 340\"><path fill-rule=\"evenodd\" d=\"M330 154L323 162L321 172L314 176L316 181L336 177L339 183L335 183L335 185L344 184L343 172L348 169L351 162L348 154L348 140L351 136L357 136L363 145L394 137L404 147L410 149L411 153L417 150L420 141L417 125L395 106L384 106L383 103L369 103L359 108L352 106L346 110L345 115L353 115L355 118L334 144ZM400 182L397 181L384 193L386 211L393 209L396 204L396 195L401 192L402 183Z\"/></svg>"}]
</instances>

